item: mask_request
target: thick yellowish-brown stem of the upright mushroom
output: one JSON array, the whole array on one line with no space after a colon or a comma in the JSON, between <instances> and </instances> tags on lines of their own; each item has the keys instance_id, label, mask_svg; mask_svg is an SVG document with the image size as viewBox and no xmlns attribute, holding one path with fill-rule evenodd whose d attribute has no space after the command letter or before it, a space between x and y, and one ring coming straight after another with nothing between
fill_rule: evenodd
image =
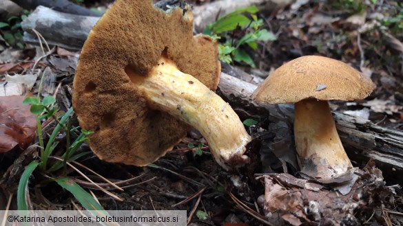
<instances>
[{"instance_id":1,"label":"thick yellowish-brown stem of the upright mushroom","mask_svg":"<svg viewBox=\"0 0 403 226\"><path fill-rule=\"evenodd\" d=\"M327 101L306 99L295 104L294 135L301 168L313 163L317 169L311 176L330 179L353 167Z\"/></svg>"}]
</instances>

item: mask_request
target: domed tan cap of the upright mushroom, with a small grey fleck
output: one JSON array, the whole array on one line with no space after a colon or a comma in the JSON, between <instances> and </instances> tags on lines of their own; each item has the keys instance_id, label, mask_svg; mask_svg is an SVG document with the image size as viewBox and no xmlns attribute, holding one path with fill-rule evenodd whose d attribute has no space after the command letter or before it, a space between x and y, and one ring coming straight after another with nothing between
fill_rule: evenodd
<instances>
[{"instance_id":1,"label":"domed tan cap of the upright mushroom, with a small grey fleck","mask_svg":"<svg viewBox=\"0 0 403 226\"><path fill-rule=\"evenodd\" d=\"M324 56L302 56L285 63L254 91L252 98L269 104L318 100L362 100L375 88L353 67Z\"/></svg>"}]
</instances>

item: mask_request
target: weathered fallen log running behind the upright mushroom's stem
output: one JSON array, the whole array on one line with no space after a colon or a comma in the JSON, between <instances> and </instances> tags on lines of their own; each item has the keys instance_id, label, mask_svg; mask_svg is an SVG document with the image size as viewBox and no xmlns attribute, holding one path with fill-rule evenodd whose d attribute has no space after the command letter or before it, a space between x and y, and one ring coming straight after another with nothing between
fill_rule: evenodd
<instances>
[{"instance_id":1,"label":"weathered fallen log running behind the upright mushroom's stem","mask_svg":"<svg viewBox=\"0 0 403 226\"><path fill-rule=\"evenodd\" d=\"M279 141L284 139L290 142L293 133L293 106L258 104L249 98L256 89L256 85L227 74L221 74L218 87L218 94L234 107L240 117L252 117L261 120L262 115L269 113L269 124L285 122L281 124L282 129L276 127L273 133L276 133ZM373 158L389 183L402 183L403 131L378 126L370 120L335 111L333 111L333 118L344 149L355 166L362 166L370 158ZM276 149L280 153L289 152L294 149L294 146L290 144L288 146L280 145L276 146Z\"/></svg>"}]
</instances>

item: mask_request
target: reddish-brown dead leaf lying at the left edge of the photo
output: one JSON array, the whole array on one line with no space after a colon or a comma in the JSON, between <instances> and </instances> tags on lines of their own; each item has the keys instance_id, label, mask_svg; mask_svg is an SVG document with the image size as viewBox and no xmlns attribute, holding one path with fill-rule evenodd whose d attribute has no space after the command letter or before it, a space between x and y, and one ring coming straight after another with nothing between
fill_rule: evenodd
<instances>
[{"instance_id":1,"label":"reddish-brown dead leaf lying at the left edge of the photo","mask_svg":"<svg viewBox=\"0 0 403 226\"><path fill-rule=\"evenodd\" d=\"M0 97L0 152L8 152L17 145L25 149L35 138L37 120L30 106L22 104L25 97Z\"/></svg>"}]
</instances>

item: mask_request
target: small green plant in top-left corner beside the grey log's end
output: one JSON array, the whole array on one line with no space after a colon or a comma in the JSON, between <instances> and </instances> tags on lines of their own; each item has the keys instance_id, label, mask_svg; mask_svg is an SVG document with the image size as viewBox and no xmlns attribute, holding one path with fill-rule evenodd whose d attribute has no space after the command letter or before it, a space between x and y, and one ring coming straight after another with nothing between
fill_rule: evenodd
<instances>
[{"instance_id":1,"label":"small green plant in top-left corner beside the grey log's end","mask_svg":"<svg viewBox=\"0 0 403 226\"><path fill-rule=\"evenodd\" d=\"M30 14L30 11L23 10L21 16L10 16L7 19L7 23L0 22L0 37L6 40L8 45L23 49L21 22L27 18L28 14Z\"/></svg>"}]
</instances>

